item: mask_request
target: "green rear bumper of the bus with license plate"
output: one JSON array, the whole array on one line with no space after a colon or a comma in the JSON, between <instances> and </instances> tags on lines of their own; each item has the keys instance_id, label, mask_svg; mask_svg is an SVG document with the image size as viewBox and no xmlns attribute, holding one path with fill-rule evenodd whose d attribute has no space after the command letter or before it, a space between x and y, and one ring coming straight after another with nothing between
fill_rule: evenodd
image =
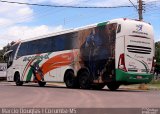
<instances>
[{"instance_id":1,"label":"green rear bumper of the bus with license plate","mask_svg":"<svg viewBox=\"0 0 160 114\"><path fill-rule=\"evenodd\" d=\"M116 69L116 81L126 84L149 83L153 79L153 74L124 72Z\"/></svg>"}]
</instances>

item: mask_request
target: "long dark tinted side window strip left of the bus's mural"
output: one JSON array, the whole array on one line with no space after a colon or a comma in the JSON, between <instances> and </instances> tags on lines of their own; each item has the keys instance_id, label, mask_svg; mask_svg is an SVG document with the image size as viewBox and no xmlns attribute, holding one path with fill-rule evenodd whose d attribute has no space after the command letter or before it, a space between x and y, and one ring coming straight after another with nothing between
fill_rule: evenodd
<instances>
[{"instance_id":1,"label":"long dark tinted side window strip left of the bus's mural","mask_svg":"<svg viewBox=\"0 0 160 114\"><path fill-rule=\"evenodd\" d=\"M76 41L76 32L65 35L52 36L44 39L33 40L21 44L18 56L32 55L39 53L55 52L74 49L78 46L73 45Z\"/></svg>"}]
</instances>

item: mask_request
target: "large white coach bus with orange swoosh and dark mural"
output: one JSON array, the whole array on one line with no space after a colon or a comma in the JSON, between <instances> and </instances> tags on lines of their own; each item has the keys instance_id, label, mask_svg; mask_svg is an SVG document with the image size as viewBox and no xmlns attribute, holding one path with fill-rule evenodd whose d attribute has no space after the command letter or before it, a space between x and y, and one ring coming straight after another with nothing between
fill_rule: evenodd
<instances>
[{"instance_id":1,"label":"large white coach bus with orange swoosh and dark mural","mask_svg":"<svg viewBox=\"0 0 160 114\"><path fill-rule=\"evenodd\" d=\"M127 18L20 41L4 54L7 81L17 86L64 82L68 88L114 91L153 78L154 36L149 23Z\"/></svg>"}]
</instances>

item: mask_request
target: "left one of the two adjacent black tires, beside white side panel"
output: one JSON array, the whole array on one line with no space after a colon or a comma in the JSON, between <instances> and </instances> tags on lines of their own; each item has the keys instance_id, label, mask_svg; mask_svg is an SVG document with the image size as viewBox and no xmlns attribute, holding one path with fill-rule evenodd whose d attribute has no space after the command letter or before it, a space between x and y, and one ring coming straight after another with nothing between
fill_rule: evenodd
<instances>
[{"instance_id":1,"label":"left one of the two adjacent black tires, beside white side panel","mask_svg":"<svg viewBox=\"0 0 160 114\"><path fill-rule=\"evenodd\" d=\"M77 77L74 76L74 72L71 70L65 73L64 82L67 88L79 88Z\"/></svg>"}]
</instances>

